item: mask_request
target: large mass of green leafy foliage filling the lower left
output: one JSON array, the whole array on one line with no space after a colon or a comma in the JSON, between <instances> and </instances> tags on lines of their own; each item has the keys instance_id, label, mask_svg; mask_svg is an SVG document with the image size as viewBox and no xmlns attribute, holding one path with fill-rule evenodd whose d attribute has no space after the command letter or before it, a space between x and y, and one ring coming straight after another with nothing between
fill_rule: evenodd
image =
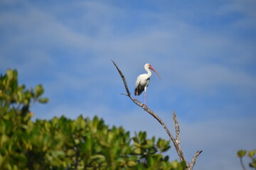
<instances>
[{"instance_id":1,"label":"large mass of green leafy foliage filling the lower left","mask_svg":"<svg viewBox=\"0 0 256 170\"><path fill-rule=\"evenodd\" d=\"M48 101L42 95L41 85L19 86L16 70L1 75L0 169L185 169L163 156L169 140L148 139L146 132L130 137L97 116L31 121L31 105Z\"/></svg>"}]
</instances>

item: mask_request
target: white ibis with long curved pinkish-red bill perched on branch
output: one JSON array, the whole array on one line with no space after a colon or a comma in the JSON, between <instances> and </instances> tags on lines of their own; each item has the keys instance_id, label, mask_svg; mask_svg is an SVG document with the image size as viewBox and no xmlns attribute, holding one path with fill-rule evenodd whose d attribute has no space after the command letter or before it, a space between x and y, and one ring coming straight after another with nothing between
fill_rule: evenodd
<instances>
[{"instance_id":1,"label":"white ibis with long curved pinkish-red bill perched on branch","mask_svg":"<svg viewBox=\"0 0 256 170\"><path fill-rule=\"evenodd\" d=\"M144 92L144 106L146 106L146 87L149 86L149 80L151 77L151 72L149 69L153 70L154 72L156 72L156 70L153 69L151 64L145 64L144 68L146 69L147 74L140 74L137 77L137 81L135 83L134 95L137 96L137 99L138 99L138 96L140 94L142 94L142 91L145 91ZM159 76L159 79L161 79L158 72L156 72L156 74Z\"/></svg>"}]
</instances>

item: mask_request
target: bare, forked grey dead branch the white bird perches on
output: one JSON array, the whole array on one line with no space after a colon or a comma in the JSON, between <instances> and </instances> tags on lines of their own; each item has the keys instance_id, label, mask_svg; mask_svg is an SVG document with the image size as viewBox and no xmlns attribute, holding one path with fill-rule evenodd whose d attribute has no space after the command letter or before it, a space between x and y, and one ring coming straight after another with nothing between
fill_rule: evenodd
<instances>
[{"instance_id":1,"label":"bare, forked grey dead branch the white bird perches on","mask_svg":"<svg viewBox=\"0 0 256 170\"><path fill-rule=\"evenodd\" d=\"M137 101L136 99L134 99L132 97L131 93L129 92L129 89L127 86L127 81L125 80L124 74L122 74L121 70L119 69L119 67L117 67L117 64L115 64L115 62L113 60L112 60L112 62L114 64L114 66L117 68L117 71L119 72L120 77L122 77L122 80L124 82L124 86L127 91L127 94L124 94L124 95L128 96L135 104L137 104L137 106L140 106L141 108L144 109L144 111L146 111L147 113L152 115L163 126L164 130L166 130L167 134L169 135L171 141L174 143L174 147L176 149L179 159L181 160L181 162L184 162L186 164L186 169L192 170L193 166L196 164L196 159L197 159L198 155L201 154L202 151L196 152L191 163L188 164L188 162L186 162L186 159L184 157L184 154L182 152L181 145L180 145L180 143L181 143L180 142L180 140L181 140L180 128L178 125L178 120L176 118L175 112L173 112L173 119L174 119L175 131L176 131L176 138L174 138L174 136L171 134L170 130L167 128L164 121L161 120L161 118L159 118L159 116L156 115L156 113L154 113L154 111L152 111L150 108L148 108L147 106L145 106L144 104L142 104L141 102Z\"/></svg>"}]
</instances>

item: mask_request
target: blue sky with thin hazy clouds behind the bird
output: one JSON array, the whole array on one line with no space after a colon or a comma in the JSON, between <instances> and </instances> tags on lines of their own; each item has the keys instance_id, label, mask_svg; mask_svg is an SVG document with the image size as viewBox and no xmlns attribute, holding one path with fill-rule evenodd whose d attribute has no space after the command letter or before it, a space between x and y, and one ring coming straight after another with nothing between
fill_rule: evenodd
<instances>
[{"instance_id":1,"label":"blue sky with thin hazy clouds behind the bird","mask_svg":"<svg viewBox=\"0 0 256 170\"><path fill-rule=\"evenodd\" d=\"M144 64L152 74L147 106L172 132L181 126L194 169L241 169L238 149L255 149L256 1L1 1L0 72L20 84L43 84L46 105L34 119L98 115L168 139L161 125L125 93ZM143 101L140 96L139 100ZM178 159L175 149L171 159Z\"/></svg>"}]
</instances>

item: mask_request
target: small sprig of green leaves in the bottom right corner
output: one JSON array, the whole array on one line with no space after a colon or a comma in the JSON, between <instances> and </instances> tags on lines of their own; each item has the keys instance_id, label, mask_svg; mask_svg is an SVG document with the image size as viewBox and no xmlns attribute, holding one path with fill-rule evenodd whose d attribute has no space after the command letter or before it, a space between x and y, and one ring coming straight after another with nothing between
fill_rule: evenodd
<instances>
[{"instance_id":1,"label":"small sprig of green leaves in the bottom right corner","mask_svg":"<svg viewBox=\"0 0 256 170\"><path fill-rule=\"evenodd\" d=\"M244 166L244 164L242 162L242 158L245 157L246 154L247 154L247 157L250 158L250 163L249 163L250 168L256 169L255 152L256 152L256 149L253 149L251 151L246 151L246 150L243 150L243 149L238 150L238 154L237 155L240 158L240 163L241 163L241 166L242 166L243 169L245 169L245 166Z\"/></svg>"}]
</instances>

